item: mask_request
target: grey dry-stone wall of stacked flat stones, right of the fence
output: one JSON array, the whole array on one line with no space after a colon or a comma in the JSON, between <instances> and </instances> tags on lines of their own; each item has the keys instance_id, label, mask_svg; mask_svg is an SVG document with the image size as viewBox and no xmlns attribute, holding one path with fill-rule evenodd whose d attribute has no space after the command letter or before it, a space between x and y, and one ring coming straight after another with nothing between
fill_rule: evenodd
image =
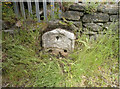
<instances>
[{"instance_id":1,"label":"grey dry-stone wall of stacked flat stones, right of the fence","mask_svg":"<svg viewBox=\"0 0 120 89\"><path fill-rule=\"evenodd\" d=\"M71 5L63 13L63 17L72 22L74 28L80 30L82 34L89 35L90 39L96 39L108 29L118 32L118 4L98 4L94 8L96 11L91 13L86 12L86 5L88 4Z\"/></svg>"}]
</instances>

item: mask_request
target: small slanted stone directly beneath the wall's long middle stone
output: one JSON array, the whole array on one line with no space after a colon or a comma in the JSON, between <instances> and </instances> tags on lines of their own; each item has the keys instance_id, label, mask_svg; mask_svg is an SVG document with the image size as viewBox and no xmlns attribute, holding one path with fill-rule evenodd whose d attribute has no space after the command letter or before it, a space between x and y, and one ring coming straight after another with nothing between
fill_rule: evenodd
<instances>
[{"instance_id":1,"label":"small slanted stone directly beneath the wall's long middle stone","mask_svg":"<svg viewBox=\"0 0 120 89\"><path fill-rule=\"evenodd\" d=\"M83 25L84 25L85 28L88 28L91 31L97 32L97 31L101 31L102 30L102 27L97 25L97 24L95 24L95 23L85 23Z\"/></svg>"}]
</instances>

